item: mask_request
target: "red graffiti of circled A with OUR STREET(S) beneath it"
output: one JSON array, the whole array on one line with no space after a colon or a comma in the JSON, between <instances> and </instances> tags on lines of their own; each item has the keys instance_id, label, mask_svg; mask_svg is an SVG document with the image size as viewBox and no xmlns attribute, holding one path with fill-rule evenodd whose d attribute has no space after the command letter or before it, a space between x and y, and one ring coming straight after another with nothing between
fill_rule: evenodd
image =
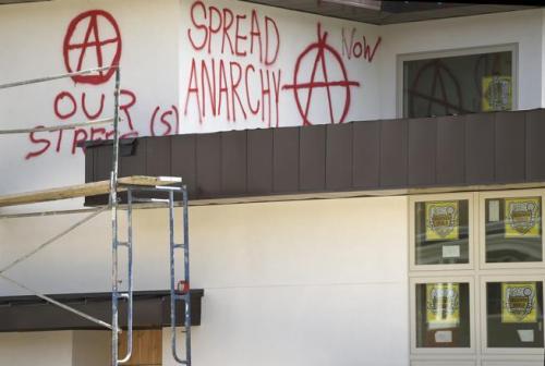
<instances>
[{"instance_id":1,"label":"red graffiti of circled A with OUR STREET(S) beneath it","mask_svg":"<svg viewBox=\"0 0 545 366\"><path fill-rule=\"evenodd\" d=\"M83 36L82 36L83 35ZM118 65L121 60L121 32L116 19L104 10L90 10L75 16L66 28L63 41L64 65L68 72L81 71L86 68ZM114 69L85 75L73 76L77 84L101 86L111 78ZM108 87L111 90L111 87ZM107 102L113 105L112 97L106 89L86 89L85 91L62 90L53 98L53 113L62 122L81 122L112 115L112 110L106 108ZM133 120L137 103L136 94L130 89L120 93L120 130L121 138L137 137ZM167 135L179 133L178 109L160 111L158 106L150 111L148 121L149 134ZM61 152L62 147L75 155L86 141L109 139L113 135L112 126L81 127L73 131L53 131L31 133L31 151L26 159L36 158L47 151ZM66 142L66 144L63 144Z\"/></svg>"}]
</instances>

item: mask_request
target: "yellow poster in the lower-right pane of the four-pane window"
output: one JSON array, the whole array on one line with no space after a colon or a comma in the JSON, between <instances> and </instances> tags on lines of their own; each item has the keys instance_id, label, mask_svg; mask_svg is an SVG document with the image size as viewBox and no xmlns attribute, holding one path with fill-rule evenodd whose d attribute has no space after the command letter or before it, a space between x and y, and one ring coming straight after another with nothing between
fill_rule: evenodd
<instances>
[{"instance_id":1,"label":"yellow poster in the lower-right pane of the four-pane window","mask_svg":"<svg viewBox=\"0 0 545 366\"><path fill-rule=\"evenodd\" d=\"M501 283L501 322L537 322L535 282Z\"/></svg>"}]
</instances>

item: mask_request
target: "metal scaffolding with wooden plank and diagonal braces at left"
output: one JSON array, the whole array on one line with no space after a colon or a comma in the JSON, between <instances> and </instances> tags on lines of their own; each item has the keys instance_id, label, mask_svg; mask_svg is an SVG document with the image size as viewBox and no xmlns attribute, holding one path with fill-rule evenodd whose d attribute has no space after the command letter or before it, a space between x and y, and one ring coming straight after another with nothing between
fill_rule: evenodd
<instances>
[{"instance_id":1,"label":"metal scaffolding with wooden plank and diagonal braces at left","mask_svg":"<svg viewBox=\"0 0 545 366\"><path fill-rule=\"evenodd\" d=\"M59 199L68 199L68 198L76 198L76 197L85 197L93 195L101 195L108 194L108 206L96 207L86 209L86 211L92 211L90 215L84 217L82 220L72 224L66 230L63 230L59 234L50 237L45 241L43 244L38 245L35 249L26 253L25 255L19 257L7 266L0 268L0 278L4 281L8 281L20 289L23 289L49 303L52 305L59 306L68 312L71 312L77 316L81 316L89 321L93 321L100 327L107 328L111 330L111 365L118 366L121 364L128 363L132 357L133 351L133 209L141 207L161 207L167 205L169 212L169 257L170 257L170 321L171 321L171 349L172 356L174 361L182 365L191 366L191 293L190 293L190 245L189 245L189 199L187 199L187 188L185 185L181 186L172 186L171 184L180 184L180 178L170 178L170 176L128 176L128 178L119 178L119 122L120 122L120 68L119 66L107 66L107 68L97 68L89 69L73 73L66 73L55 76L46 76L40 78L34 78L23 82L15 82L9 84L0 85L0 89L7 89L12 87L19 87L24 85L45 83L61 78L68 78L76 75L92 74L96 72L104 72L109 69L116 70L116 85L114 85L114 110L112 118L106 118L100 120L93 121L84 121L78 123L65 123L61 125L52 125L45 127L35 127L35 129L13 129L13 130L0 130L0 135L11 135L11 134L23 134L23 133L33 133L33 132L46 132L46 131L61 131L61 130L73 130L77 127L84 127L89 125L97 124L113 124L113 144L112 144L112 160L111 160L111 172L109 181L101 182L93 182L85 183L80 185L64 186L58 188L50 188L44 191L35 191L35 192L26 192L21 194L9 194L0 196L0 207L8 206L16 206L16 205L25 205L25 204L36 204L36 203L45 203L51 200ZM120 210L120 199L118 197L118 193L126 192L128 195L128 204L126 204L126 241L120 241L119 239L119 210ZM137 193L147 192L147 195L156 194L156 195L168 195L168 198L149 198L149 197L138 197ZM174 242L174 193L181 193L182 195L182 229L183 229L183 242L175 243ZM111 268L111 324L107 324L104 320L84 314L73 307L70 307L63 303L47 296L39 291L31 289L29 286L13 280L12 278L4 274L9 269L19 265L20 263L34 256L39 251L45 247L51 245L56 241L65 236L68 233L72 232L76 228L81 227L85 222L90 219L97 217L99 213L110 209L111 212L111 233L112 233L112 268ZM44 215L56 215L61 211L43 211L35 212L36 216ZM66 211L62 211L63 213ZM25 215L28 216L28 215ZM13 216L10 216L13 217ZM119 277L119 249L120 247L126 248L126 278L128 278L128 286L125 291L121 291L119 288L120 277ZM183 277L182 280L177 282L177 273L175 273L175 254L178 251L183 252ZM181 288L178 288L178 284L181 284ZM121 333L121 328L119 326L119 301L126 301L128 312L126 312L126 354L120 358L119 357L119 334ZM184 321L183 321L183 332L185 334L185 355L180 357L177 351L177 305L180 301L184 302Z\"/></svg>"}]
</instances>

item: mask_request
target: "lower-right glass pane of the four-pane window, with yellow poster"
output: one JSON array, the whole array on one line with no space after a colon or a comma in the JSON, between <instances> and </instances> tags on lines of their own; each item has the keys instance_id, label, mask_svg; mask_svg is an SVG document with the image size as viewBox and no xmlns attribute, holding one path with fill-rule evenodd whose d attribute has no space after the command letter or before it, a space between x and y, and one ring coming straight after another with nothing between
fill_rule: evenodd
<instances>
[{"instance_id":1,"label":"lower-right glass pane of the four-pane window, with yellow poster","mask_svg":"<svg viewBox=\"0 0 545 366\"><path fill-rule=\"evenodd\" d=\"M489 347L543 347L543 283L486 283Z\"/></svg>"}]
</instances>

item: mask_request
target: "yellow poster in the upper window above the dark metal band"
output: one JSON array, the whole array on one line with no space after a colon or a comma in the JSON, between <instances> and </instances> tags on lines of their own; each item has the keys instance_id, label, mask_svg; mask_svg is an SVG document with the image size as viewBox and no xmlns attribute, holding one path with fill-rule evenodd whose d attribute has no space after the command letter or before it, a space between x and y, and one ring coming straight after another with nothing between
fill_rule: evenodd
<instances>
[{"instance_id":1,"label":"yellow poster in the upper window above the dark metal band","mask_svg":"<svg viewBox=\"0 0 545 366\"><path fill-rule=\"evenodd\" d=\"M511 76L483 77L483 111L501 111L512 109Z\"/></svg>"}]
</instances>

